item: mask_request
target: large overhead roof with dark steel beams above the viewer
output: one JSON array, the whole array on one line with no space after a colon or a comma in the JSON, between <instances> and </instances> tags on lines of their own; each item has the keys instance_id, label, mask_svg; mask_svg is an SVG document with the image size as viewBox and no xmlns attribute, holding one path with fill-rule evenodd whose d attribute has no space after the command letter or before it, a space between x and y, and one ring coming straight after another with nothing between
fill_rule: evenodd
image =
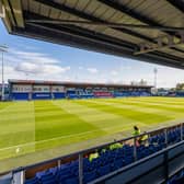
<instances>
[{"instance_id":1,"label":"large overhead roof with dark steel beams above the viewer","mask_svg":"<svg viewBox=\"0 0 184 184\"><path fill-rule=\"evenodd\" d=\"M183 0L2 0L9 33L184 69Z\"/></svg>"}]
</instances>

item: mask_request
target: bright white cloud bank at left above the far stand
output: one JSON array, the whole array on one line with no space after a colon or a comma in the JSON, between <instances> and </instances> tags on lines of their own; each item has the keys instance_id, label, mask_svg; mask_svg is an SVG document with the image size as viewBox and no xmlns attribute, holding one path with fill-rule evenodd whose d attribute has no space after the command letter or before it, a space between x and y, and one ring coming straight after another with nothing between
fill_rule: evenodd
<instances>
[{"instance_id":1,"label":"bright white cloud bank at left above the far stand","mask_svg":"<svg viewBox=\"0 0 184 184\"><path fill-rule=\"evenodd\" d=\"M1 69L1 66L0 66ZM4 79L65 80L70 66L43 53L11 48L4 56Z\"/></svg>"}]
</instances>

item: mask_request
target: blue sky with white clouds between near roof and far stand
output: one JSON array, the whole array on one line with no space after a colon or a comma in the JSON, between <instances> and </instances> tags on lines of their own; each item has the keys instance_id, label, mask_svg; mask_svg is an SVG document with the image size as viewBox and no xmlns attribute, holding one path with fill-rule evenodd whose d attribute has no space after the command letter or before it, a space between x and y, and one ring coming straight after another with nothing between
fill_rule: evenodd
<instances>
[{"instance_id":1,"label":"blue sky with white clouds between near roof and far stand","mask_svg":"<svg viewBox=\"0 0 184 184\"><path fill-rule=\"evenodd\" d=\"M8 46L5 82L8 79L27 79L130 83L143 79L152 85L154 68L158 69L158 88L173 88L184 82L184 70L10 35L1 20L0 45Z\"/></svg>"}]
</instances>

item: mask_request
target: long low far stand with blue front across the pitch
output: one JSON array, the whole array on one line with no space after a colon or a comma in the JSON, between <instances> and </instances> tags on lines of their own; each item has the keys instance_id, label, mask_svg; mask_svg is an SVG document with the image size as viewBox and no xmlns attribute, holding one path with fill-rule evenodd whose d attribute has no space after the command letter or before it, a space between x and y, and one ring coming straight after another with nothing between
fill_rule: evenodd
<instances>
[{"instance_id":1,"label":"long low far stand with blue front across the pitch","mask_svg":"<svg viewBox=\"0 0 184 184\"><path fill-rule=\"evenodd\" d=\"M10 100L150 96L151 85L9 80Z\"/></svg>"}]
</instances>

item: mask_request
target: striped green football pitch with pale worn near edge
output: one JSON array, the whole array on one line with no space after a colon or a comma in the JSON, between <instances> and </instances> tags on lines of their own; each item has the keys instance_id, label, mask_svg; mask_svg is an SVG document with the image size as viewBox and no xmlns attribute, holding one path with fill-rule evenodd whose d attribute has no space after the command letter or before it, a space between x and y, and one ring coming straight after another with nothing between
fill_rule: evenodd
<instances>
[{"instance_id":1,"label":"striped green football pitch with pale worn near edge","mask_svg":"<svg viewBox=\"0 0 184 184\"><path fill-rule=\"evenodd\" d=\"M134 125L150 130L183 119L184 99L174 97L1 102L0 163L27 164L130 136Z\"/></svg>"}]
</instances>

